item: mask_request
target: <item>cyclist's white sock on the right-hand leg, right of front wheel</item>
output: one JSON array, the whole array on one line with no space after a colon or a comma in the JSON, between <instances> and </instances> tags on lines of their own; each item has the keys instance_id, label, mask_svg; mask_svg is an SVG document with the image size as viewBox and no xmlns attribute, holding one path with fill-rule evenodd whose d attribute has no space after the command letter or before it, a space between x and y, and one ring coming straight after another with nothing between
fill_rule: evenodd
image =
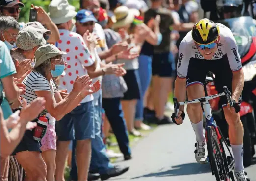
<instances>
[{"instance_id":1,"label":"cyclist's white sock on the right-hand leg, right of front wheel","mask_svg":"<svg viewBox=\"0 0 256 181\"><path fill-rule=\"evenodd\" d=\"M241 145L232 145L232 151L234 154L234 161L235 161L235 171L242 171L244 170L243 158L244 158L244 144Z\"/></svg>"}]
</instances>

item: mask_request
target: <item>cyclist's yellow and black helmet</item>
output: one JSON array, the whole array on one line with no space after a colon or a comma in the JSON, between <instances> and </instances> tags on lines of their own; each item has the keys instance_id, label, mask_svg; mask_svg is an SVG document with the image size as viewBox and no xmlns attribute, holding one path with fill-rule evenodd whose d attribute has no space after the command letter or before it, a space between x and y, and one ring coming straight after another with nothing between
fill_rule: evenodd
<instances>
[{"instance_id":1,"label":"cyclist's yellow and black helmet","mask_svg":"<svg viewBox=\"0 0 256 181\"><path fill-rule=\"evenodd\" d=\"M192 38L198 44L210 44L215 42L220 34L220 29L213 21L201 19L192 29Z\"/></svg>"}]
</instances>

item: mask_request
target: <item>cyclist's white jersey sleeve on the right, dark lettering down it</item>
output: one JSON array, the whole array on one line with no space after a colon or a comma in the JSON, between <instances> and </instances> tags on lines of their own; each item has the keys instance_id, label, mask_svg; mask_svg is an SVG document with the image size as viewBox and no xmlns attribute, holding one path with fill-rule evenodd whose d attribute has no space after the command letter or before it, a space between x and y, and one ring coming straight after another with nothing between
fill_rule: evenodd
<instances>
[{"instance_id":1,"label":"cyclist's white jersey sleeve on the right, dark lettering down it","mask_svg":"<svg viewBox=\"0 0 256 181\"><path fill-rule=\"evenodd\" d=\"M230 68L232 71L238 71L242 68L241 58L238 53L237 45L231 31L228 37L225 37L225 51L229 60Z\"/></svg>"}]
</instances>

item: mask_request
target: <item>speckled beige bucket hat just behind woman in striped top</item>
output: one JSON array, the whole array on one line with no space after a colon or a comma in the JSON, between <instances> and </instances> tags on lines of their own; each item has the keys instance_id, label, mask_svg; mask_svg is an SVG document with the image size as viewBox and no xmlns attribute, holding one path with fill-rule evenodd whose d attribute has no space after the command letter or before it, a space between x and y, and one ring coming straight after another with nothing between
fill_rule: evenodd
<instances>
[{"instance_id":1,"label":"speckled beige bucket hat just behind woman in striped top","mask_svg":"<svg viewBox=\"0 0 256 181\"><path fill-rule=\"evenodd\" d=\"M40 29L32 26L23 28L17 35L16 45L22 50L30 50L36 46L42 46L46 44L46 40Z\"/></svg>"}]
</instances>

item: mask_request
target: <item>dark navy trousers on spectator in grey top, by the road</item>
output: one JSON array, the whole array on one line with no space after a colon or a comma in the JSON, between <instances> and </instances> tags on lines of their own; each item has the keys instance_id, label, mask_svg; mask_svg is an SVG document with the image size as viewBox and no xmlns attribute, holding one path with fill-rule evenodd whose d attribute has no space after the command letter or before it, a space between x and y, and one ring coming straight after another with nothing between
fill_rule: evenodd
<instances>
[{"instance_id":1,"label":"dark navy trousers on spectator in grey top, by the road","mask_svg":"<svg viewBox=\"0 0 256 181\"><path fill-rule=\"evenodd\" d=\"M120 98L104 98L102 102L106 117L116 136L120 151L124 155L131 155L128 131Z\"/></svg>"}]
</instances>

